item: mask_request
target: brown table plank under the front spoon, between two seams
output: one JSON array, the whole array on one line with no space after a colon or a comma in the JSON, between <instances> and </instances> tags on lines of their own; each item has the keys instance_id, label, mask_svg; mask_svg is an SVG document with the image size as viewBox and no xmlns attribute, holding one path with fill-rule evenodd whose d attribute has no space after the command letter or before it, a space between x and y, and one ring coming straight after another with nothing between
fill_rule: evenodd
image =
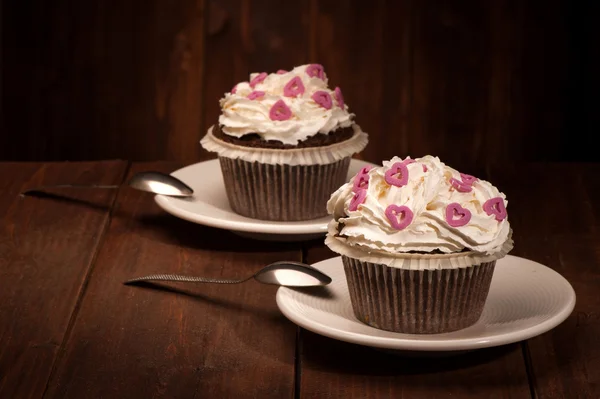
<instances>
[{"instance_id":1,"label":"brown table plank under the front spoon, between two seams","mask_svg":"<svg viewBox=\"0 0 600 399\"><path fill-rule=\"evenodd\" d=\"M175 167L135 164L132 173ZM185 222L133 190L120 192L115 209L47 396L290 397L296 329L277 309L276 287L122 282L153 273L241 278L299 260L299 246Z\"/></svg>"}]
</instances>

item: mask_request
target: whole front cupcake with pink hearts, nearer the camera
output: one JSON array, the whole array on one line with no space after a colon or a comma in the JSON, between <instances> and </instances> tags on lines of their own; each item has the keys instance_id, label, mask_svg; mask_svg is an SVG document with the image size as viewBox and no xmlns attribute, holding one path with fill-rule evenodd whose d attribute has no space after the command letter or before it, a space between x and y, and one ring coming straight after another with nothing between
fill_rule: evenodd
<instances>
[{"instance_id":1,"label":"whole front cupcake with pink hearts, nearer the camera","mask_svg":"<svg viewBox=\"0 0 600 399\"><path fill-rule=\"evenodd\" d=\"M439 158L395 157L332 194L325 243L342 256L356 317L444 333L474 324L513 247L503 193Z\"/></svg>"}]
</instances>

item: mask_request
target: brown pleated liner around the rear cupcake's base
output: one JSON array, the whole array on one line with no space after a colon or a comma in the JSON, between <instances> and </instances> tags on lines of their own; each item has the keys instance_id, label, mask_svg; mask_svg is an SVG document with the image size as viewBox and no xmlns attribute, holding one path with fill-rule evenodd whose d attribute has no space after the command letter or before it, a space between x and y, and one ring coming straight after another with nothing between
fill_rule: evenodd
<instances>
[{"instance_id":1,"label":"brown pleated liner around the rear cupcake's base","mask_svg":"<svg viewBox=\"0 0 600 399\"><path fill-rule=\"evenodd\" d=\"M346 182L350 157L325 165L286 165L219 157L234 212L260 220L299 221L327 215L331 193Z\"/></svg>"}]
</instances>

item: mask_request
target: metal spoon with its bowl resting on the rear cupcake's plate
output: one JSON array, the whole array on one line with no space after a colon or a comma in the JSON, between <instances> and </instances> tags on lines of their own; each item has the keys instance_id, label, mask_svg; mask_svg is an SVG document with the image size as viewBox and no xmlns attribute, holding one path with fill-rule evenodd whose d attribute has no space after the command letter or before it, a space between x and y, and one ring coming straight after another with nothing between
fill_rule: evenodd
<instances>
[{"instance_id":1,"label":"metal spoon with its bowl resting on the rear cupcake's plate","mask_svg":"<svg viewBox=\"0 0 600 399\"><path fill-rule=\"evenodd\" d=\"M178 178L161 172L136 173L127 183L130 187L154 194L168 195L171 197L190 197L194 190ZM41 186L30 188L21 193L27 195L32 192L40 192L52 188L107 188L117 189L119 185L100 184L57 184L53 186Z\"/></svg>"}]
</instances>

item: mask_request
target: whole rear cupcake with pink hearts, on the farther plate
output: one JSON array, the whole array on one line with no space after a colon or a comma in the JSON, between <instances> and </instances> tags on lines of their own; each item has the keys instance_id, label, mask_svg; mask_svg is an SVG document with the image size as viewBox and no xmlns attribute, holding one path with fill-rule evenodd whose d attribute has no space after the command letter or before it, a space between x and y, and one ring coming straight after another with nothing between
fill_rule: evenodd
<instances>
[{"instance_id":1,"label":"whole rear cupcake with pink hearts, on the farther plate","mask_svg":"<svg viewBox=\"0 0 600 399\"><path fill-rule=\"evenodd\" d=\"M200 143L218 154L234 212L277 221L326 216L368 137L323 67L253 73L220 104L219 122Z\"/></svg>"}]
</instances>

